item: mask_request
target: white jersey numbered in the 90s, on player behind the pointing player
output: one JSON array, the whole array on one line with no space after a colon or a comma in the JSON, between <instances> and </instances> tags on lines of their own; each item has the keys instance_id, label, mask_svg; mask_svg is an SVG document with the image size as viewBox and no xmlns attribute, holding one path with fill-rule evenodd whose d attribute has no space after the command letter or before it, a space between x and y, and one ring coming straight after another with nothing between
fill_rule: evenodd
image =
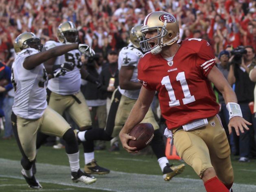
<instances>
[{"instance_id":1,"label":"white jersey numbered in the 90s, on player behind the pointing player","mask_svg":"<svg viewBox=\"0 0 256 192\"><path fill-rule=\"evenodd\" d=\"M55 46L65 45L55 41L47 41L45 49L48 50ZM71 95L80 91L81 74L77 66L81 66L81 53L79 50L72 50L64 55L57 57L54 65L61 65L62 63L70 63L74 66L72 71L68 71L64 76L52 78L49 80L48 89L60 95Z\"/></svg>"}]
</instances>

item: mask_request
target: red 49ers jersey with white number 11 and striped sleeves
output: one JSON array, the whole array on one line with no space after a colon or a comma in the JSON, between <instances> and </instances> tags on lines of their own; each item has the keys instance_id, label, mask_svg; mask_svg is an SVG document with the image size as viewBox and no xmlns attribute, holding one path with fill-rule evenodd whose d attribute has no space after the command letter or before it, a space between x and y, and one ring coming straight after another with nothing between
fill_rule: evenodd
<instances>
[{"instance_id":1,"label":"red 49ers jersey with white number 11 and striped sleeves","mask_svg":"<svg viewBox=\"0 0 256 192\"><path fill-rule=\"evenodd\" d=\"M215 65L210 44L197 38L182 41L172 61L160 54L146 53L138 63L138 80L158 99L168 129L219 112L207 75Z\"/></svg>"}]
</instances>

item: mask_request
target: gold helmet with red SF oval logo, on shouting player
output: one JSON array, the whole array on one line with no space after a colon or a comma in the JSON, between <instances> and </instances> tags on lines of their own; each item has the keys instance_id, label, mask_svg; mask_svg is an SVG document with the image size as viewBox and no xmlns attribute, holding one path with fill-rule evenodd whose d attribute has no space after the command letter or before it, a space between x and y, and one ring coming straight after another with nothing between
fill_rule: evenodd
<instances>
[{"instance_id":1,"label":"gold helmet with red SF oval logo, on shouting player","mask_svg":"<svg viewBox=\"0 0 256 192\"><path fill-rule=\"evenodd\" d=\"M147 31L157 30L157 36L150 39L145 38ZM141 49L151 51L152 54L158 54L162 47L172 45L179 39L179 24L175 17L164 11L155 11L148 14L141 28L143 41L140 42ZM149 40L157 38L157 45L150 45Z\"/></svg>"}]
</instances>

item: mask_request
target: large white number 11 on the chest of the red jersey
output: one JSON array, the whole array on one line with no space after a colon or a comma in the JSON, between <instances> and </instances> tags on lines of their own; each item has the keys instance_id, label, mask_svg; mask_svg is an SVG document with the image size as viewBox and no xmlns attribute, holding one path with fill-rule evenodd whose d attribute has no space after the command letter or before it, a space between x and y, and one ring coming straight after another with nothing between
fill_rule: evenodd
<instances>
[{"instance_id":1,"label":"large white number 11 on the chest of the red jersey","mask_svg":"<svg viewBox=\"0 0 256 192\"><path fill-rule=\"evenodd\" d=\"M180 82L183 94L185 96L185 98L182 99L183 104L185 105L185 104L192 103L192 102L196 101L194 95L191 95L191 93L189 91L188 84L187 84L187 81L185 78L185 72L179 72L176 76L176 80ZM179 106L180 102L175 97L174 90L173 90L172 84L170 82L169 76L163 77L161 83L162 83L162 85L165 86L166 90L168 91L168 95L170 98L169 106L170 107Z\"/></svg>"}]
</instances>

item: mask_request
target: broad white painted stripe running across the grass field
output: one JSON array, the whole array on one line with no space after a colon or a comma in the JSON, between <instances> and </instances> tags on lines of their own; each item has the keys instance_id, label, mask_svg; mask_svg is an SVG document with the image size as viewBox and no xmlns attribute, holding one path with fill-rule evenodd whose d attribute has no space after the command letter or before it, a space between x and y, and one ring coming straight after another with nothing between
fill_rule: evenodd
<instances>
[{"instance_id":1,"label":"broad white painted stripe running across the grass field","mask_svg":"<svg viewBox=\"0 0 256 192\"><path fill-rule=\"evenodd\" d=\"M0 158L0 164L0 178L24 179L20 174L20 161ZM68 166L38 163L37 170L36 178L41 184L45 182L113 192L155 192L167 190L175 192L205 192L204 185L200 179L174 177L170 182L165 182L162 175L124 173L111 170L110 174L107 175L94 175L97 178L96 183L85 185L83 183L72 183ZM150 170L148 172L150 173ZM56 187L56 189L58 188ZM256 185L234 184L233 189L234 191L255 192Z\"/></svg>"}]
</instances>

